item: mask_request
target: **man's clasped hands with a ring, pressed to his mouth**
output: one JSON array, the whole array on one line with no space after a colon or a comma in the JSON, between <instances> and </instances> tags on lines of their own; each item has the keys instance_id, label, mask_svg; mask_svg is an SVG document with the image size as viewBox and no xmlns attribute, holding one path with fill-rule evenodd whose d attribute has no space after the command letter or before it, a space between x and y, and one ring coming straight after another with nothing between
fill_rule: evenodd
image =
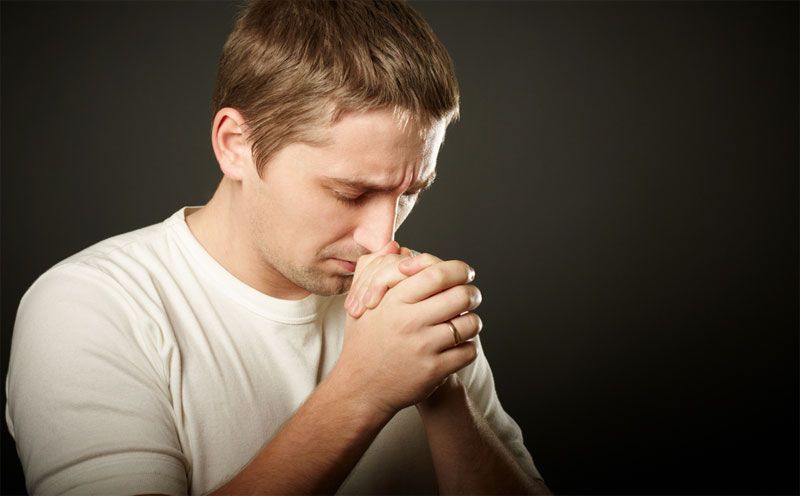
<instances>
[{"instance_id":1,"label":"man's clasped hands with a ring, pressed to his mouth","mask_svg":"<svg viewBox=\"0 0 800 496\"><path fill-rule=\"evenodd\" d=\"M412 256L395 241L358 259L345 301L342 354L351 387L394 414L428 398L477 357L475 271L458 260ZM457 342L448 321L455 326Z\"/></svg>"}]
</instances>

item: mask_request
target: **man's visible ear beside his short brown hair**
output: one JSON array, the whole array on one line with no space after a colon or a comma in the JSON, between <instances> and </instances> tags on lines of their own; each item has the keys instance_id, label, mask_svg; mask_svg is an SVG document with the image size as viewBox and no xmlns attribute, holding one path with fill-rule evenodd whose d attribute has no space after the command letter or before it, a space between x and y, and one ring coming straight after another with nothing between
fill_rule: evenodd
<instances>
[{"instance_id":1,"label":"man's visible ear beside his short brown hair","mask_svg":"<svg viewBox=\"0 0 800 496\"><path fill-rule=\"evenodd\" d=\"M252 152L244 135L244 117L238 110L225 107L217 112L211 127L211 146L222 173L241 181L252 167Z\"/></svg>"}]
</instances>

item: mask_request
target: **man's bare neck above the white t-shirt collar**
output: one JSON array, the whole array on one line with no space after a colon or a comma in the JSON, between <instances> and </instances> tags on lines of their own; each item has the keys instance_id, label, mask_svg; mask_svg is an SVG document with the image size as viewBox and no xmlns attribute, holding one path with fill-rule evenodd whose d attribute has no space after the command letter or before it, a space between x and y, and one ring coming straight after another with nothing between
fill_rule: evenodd
<instances>
[{"instance_id":1,"label":"man's bare neck above the white t-shirt collar","mask_svg":"<svg viewBox=\"0 0 800 496\"><path fill-rule=\"evenodd\" d=\"M255 242L251 212L236 201L238 186L223 177L205 206L186 212L189 230L214 260L248 286L273 298L305 298L308 291L297 287L264 259Z\"/></svg>"}]
</instances>

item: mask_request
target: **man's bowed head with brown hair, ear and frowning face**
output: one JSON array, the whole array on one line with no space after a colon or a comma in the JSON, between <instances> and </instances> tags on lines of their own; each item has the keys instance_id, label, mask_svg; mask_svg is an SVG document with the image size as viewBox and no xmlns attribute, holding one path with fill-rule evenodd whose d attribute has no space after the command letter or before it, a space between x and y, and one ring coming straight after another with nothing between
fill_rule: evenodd
<instances>
[{"instance_id":1,"label":"man's bowed head with brown hair, ear and frowning face","mask_svg":"<svg viewBox=\"0 0 800 496\"><path fill-rule=\"evenodd\" d=\"M432 182L458 87L404 3L256 2L225 44L214 111L252 265L273 294L336 294Z\"/></svg>"}]
</instances>

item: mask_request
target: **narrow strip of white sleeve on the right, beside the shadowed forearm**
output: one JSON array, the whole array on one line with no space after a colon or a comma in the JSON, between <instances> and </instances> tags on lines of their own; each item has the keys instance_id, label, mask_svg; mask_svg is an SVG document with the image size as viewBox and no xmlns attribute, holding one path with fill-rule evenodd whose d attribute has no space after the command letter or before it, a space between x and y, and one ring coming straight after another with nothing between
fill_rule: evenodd
<instances>
[{"instance_id":1,"label":"narrow strip of white sleeve on the right, beside the shadowed forearm","mask_svg":"<svg viewBox=\"0 0 800 496\"><path fill-rule=\"evenodd\" d=\"M503 410L503 406L497 398L492 370L478 337L475 338L475 343L478 345L478 357L468 367L464 367L458 372L459 378L466 386L475 408L483 414L489 426L508 448L517 463L530 476L541 479L542 476L523 442L522 430L514 419Z\"/></svg>"}]
</instances>

